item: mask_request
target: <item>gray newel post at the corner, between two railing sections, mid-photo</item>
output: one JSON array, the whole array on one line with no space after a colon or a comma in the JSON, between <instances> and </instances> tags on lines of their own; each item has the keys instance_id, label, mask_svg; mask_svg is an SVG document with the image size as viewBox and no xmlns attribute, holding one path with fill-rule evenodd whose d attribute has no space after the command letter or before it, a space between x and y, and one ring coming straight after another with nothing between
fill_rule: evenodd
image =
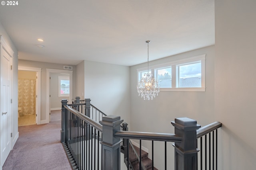
<instances>
[{"instance_id":1,"label":"gray newel post at the corner, between two railing sections, mid-photo","mask_svg":"<svg viewBox=\"0 0 256 170\"><path fill-rule=\"evenodd\" d=\"M108 115L102 117L102 170L120 170L120 138L115 137L120 131L120 116Z\"/></svg>"}]
</instances>

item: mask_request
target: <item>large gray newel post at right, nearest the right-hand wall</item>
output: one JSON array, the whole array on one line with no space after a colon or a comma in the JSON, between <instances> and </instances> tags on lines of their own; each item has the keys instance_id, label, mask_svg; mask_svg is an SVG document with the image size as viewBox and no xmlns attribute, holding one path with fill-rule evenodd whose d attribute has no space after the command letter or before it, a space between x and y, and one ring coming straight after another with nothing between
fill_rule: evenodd
<instances>
[{"instance_id":1,"label":"large gray newel post at right, nearest the right-hand wall","mask_svg":"<svg viewBox=\"0 0 256 170\"><path fill-rule=\"evenodd\" d=\"M197 139L196 130L201 126L196 120L186 117L172 121L175 134L182 137L181 142L175 142L175 170L197 170Z\"/></svg>"}]
</instances>

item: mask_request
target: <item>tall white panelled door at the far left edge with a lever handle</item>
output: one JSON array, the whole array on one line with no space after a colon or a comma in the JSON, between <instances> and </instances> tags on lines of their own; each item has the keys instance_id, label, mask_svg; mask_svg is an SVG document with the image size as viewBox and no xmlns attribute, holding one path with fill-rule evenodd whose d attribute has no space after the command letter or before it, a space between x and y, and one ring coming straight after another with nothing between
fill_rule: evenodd
<instances>
[{"instance_id":1,"label":"tall white panelled door at the far left edge with a lever handle","mask_svg":"<svg viewBox=\"0 0 256 170\"><path fill-rule=\"evenodd\" d=\"M0 151L1 167L11 150L11 57L1 47Z\"/></svg>"}]
</instances>

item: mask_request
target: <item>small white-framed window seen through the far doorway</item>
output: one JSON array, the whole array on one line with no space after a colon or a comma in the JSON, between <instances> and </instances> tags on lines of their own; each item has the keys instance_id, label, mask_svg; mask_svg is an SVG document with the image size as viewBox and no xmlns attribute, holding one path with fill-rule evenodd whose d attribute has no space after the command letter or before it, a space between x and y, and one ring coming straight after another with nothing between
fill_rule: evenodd
<instances>
[{"instance_id":1,"label":"small white-framed window seen through the far doorway","mask_svg":"<svg viewBox=\"0 0 256 170\"><path fill-rule=\"evenodd\" d=\"M70 81L69 76L58 76L59 79L59 97L69 96Z\"/></svg>"}]
</instances>

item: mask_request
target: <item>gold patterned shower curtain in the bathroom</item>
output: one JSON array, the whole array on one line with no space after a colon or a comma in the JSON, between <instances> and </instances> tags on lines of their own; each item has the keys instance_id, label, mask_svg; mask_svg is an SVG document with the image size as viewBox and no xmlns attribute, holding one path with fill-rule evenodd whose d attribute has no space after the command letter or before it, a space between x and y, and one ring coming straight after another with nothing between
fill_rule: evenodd
<instances>
[{"instance_id":1,"label":"gold patterned shower curtain in the bathroom","mask_svg":"<svg viewBox=\"0 0 256 170\"><path fill-rule=\"evenodd\" d=\"M36 80L18 80L18 107L20 115L36 114Z\"/></svg>"}]
</instances>

